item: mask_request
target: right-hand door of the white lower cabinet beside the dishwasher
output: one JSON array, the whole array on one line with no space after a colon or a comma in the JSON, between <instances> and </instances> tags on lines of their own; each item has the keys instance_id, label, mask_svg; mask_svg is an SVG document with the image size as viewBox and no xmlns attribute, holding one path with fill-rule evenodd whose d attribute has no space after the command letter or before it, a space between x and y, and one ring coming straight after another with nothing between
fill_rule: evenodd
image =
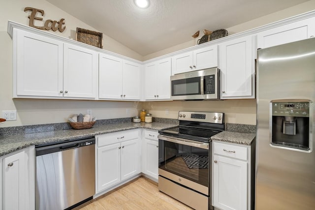
<instances>
[{"instance_id":1,"label":"right-hand door of the white lower cabinet beside the dishwasher","mask_svg":"<svg viewBox=\"0 0 315 210\"><path fill-rule=\"evenodd\" d=\"M139 173L140 159L138 152L138 139L121 143L122 149L122 180L126 180Z\"/></svg>"}]
</instances>

